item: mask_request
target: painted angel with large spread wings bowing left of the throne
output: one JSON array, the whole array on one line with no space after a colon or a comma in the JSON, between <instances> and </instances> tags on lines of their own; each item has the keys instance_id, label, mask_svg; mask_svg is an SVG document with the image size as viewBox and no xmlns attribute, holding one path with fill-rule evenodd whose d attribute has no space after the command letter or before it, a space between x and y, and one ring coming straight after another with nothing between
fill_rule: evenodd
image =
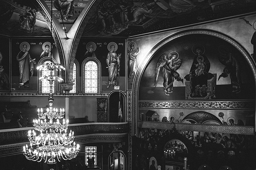
<instances>
[{"instance_id":1,"label":"painted angel with large spread wings bowing left of the throne","mask_svg":"<svg viewBox=\"0 0 256 170\"><path fill-rule=\"evenodd\" d=\"M166 96L170 96L168 93L172 93L173 90L173 82L176 79L177 81L181 81L183 84L183 79L180 77L180 74L176 71L181 67L182 60L178 59L179 54L175 51L170 52L168 57L166 54L163 54L156 63L155 70L155 81L154 86L156 86L159 71L163 68L163 78L164 78L164 91Z\"/></svg>"}]
</instances>

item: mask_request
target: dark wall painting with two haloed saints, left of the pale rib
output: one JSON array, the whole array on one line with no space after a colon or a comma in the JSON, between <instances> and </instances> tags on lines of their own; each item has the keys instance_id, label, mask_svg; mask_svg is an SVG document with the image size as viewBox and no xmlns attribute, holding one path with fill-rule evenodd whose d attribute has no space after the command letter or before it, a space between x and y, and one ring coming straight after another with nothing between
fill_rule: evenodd
<instances>
[{"instance_id":1,"label":"dark wall painting with two haloed saints, left of the pale rib","mask_svg":"<svg viewBox=\"0 0 256 170\"><path fill-rule=\"evenodd\" d=\"M52 56L60 63L55 43L51 39L11 39L11 90L37 91L37 66L41 59ZM49 46L49 47L48 47Z\"/></svg>"}]
</instances>

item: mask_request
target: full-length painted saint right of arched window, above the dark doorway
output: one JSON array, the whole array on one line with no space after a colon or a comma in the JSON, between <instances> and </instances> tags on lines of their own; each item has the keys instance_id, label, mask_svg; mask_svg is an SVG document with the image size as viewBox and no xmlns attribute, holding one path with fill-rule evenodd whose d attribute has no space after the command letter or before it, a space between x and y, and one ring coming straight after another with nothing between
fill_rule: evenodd
<instances>
[{"instance_id":1,"label":"full-length painted saint right of arched window, above the dark doorway","mask_svg":"<svg viewBox=\"0 0 256 170\"><path fill-rule=\"evenodd\" d=\"M111 43L109 43L110 45ZM117 55L117 53L115 52L115 44L110 45L110 51L108 52L107 55L107 59L106 59L106 63L108 65L108 73L109 73L109 77L108 77L108 81L109 81L109 85L107 86L107 89L110 87L111 84L113 84L113 86L117 86L117 75L119 75L120 72L120 58L121 58L121 53L119 53ZM117 46L117 45L116 45Z\"/></svg>"}]
</instances>

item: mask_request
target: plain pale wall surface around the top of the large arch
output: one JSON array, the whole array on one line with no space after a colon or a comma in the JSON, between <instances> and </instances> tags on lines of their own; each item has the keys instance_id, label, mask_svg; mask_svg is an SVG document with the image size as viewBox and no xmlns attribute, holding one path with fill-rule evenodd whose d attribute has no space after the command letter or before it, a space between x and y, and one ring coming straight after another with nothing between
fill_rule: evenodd
<instances>
[{"instance_id":1,"label":"plain pale wall surface around the top of the large arch","mask_svg":"<svg viewBox=\"0 0 256 170\"><path fill-rule=\"evenodd\" d=\"M247 16L249 22L253 23L256 15ZM249 24L246 24L244 20L239 18L212 22L207 24L202 24L200 26L190 27L189 29L193 28L205 28L216 30L222 32L243 45L243 47L250 53L253 53L253 44L250 43L252 39L253 33L255 30ZM176 29L173 31L166 31L162 33L154 33L147 36L141 36L136 38L128 38L127 39L127 49L129 49L129 43L135 42L136 48L139 48L139 54L137 56L138 66L141 62L145 59L145 56L148 52L155 46L156 43L163 40L165 37L170 36L178 31L187 30L188 28L183 29ZM243 31L241 31L243 30ZM129 89L131 87L128 86Z\"/></svg>"}]
</instances>

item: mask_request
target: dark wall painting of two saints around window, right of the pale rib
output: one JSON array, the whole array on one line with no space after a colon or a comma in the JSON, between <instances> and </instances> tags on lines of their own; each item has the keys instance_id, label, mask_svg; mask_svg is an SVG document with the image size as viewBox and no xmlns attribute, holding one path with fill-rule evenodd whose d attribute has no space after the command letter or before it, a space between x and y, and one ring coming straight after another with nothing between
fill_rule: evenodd
<instances>
[{"instance_id":1,"label":"dark wall painting of two saints around window, right of the pale rib","mask_svg":"<svg viewBox=\"0 0 256 170\"><path fill-rule=\"evenodd\" d=\"M113 39L88 40L82 37L76 52L76 60L79 62L80 68L82 62L88 57L97 58L100 61L102 91L112 91L118 88L122 91L125 90L124 39L115 39L115 41Z\"/></svg>"}]
</instances>

